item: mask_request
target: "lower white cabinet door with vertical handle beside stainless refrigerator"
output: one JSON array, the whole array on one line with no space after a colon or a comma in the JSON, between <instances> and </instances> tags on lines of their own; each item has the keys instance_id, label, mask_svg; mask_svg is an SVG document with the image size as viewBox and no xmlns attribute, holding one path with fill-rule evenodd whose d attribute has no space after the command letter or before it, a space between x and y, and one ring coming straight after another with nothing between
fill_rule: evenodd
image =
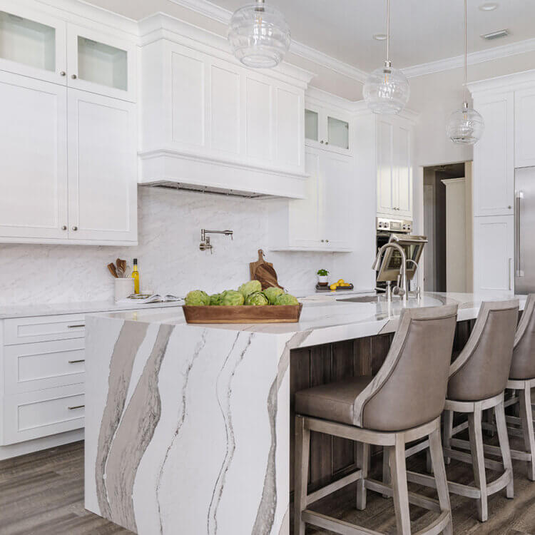
<instances>
[{"instance_id":1,"label":"lower white cabinet door with vertical handle beside stainless refrigerator","mask_svg":"<svg viewBox=\"0 0 535 535\"><path fill-rule=\"evenodd\" d=\"M514 293L514 215L474 218L474 292Z\"/></svg>"}]
</instances>

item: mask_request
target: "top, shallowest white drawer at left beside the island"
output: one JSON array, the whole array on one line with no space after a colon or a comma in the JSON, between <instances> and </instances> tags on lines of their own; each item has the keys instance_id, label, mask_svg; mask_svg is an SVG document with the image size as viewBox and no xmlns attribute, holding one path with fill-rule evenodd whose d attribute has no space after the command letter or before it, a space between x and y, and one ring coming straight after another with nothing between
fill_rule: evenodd
<instances>
[{"instance_id":1,"label":"top, shallowest white drawer at left beside the island","mask_svg":"<svg viewBox=\"0 0 535 535\"><path fill-rule=\"evenodd\" d=\"M4 322L4 344L27 344L48 340L83 338L85 331L83 314L17 317Z\"/></svg>"}]
</instances>

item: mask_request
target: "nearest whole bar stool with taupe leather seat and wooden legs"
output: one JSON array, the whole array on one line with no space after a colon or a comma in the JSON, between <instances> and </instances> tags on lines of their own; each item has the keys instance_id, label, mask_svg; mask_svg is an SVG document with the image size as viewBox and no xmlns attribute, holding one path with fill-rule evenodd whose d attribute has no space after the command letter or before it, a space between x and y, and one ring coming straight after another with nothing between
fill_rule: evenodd
<instances>
[{"instance_id":1,"label":"nearest whole bar stool with taupe leather seat and wooden legs","mask_svg":"<svg viewBox=\"0 0 535 535\"><path fill-rule=\"evenodd\" d=\"M365 509L368 489L393 496L398 534L411 533L409 503L439 513L419 534L453 533L440 414L456 322L457 305L404 309L384 364L373 378L353 377L295 394L295 535L305 535L305 524L344 535L380 535L307 509L352 481L357 481L357 509ZM359 469L307 494L311 431L357 441ZM429 437L438 501L407 491L405 443L423 437ZM368 478L370 444L388 452L392 485Z\"/></svg>"}]
</instances>

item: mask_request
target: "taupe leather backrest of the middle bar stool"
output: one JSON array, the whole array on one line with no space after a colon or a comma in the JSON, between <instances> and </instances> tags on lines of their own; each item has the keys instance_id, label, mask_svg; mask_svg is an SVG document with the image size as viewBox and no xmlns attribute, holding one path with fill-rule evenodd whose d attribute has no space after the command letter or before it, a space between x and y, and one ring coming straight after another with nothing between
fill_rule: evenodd
<instances>
[{"instance_id":1,"label":"taupe leather backrest of the middle bar stool","mask_svg":"<svg viewBox=\"0 0 535 535\"><path fill-rule=\"evenodd\" d=\"M486 301L467 345L452 364L448 399L480 401L503 392L513 356L519 301Z\"/></svg>"}]
</instances>

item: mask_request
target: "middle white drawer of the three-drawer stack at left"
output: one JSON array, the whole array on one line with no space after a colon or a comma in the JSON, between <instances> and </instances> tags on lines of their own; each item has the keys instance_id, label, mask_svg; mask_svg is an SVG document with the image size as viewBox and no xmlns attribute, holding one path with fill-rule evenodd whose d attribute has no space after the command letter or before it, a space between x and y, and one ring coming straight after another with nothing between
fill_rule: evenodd
<instances>
[{"instance_id":1,"label":"middle white drawer of the three-drawer stack at left","mask_svg":"<svg viewBox=\"0 0 535 535\"><path fill-rule=\"evenodd\" d=\"M85 339L54 340L4 348L4 392L19 394L84 380Z\"/></svg>"}]
</instances>

